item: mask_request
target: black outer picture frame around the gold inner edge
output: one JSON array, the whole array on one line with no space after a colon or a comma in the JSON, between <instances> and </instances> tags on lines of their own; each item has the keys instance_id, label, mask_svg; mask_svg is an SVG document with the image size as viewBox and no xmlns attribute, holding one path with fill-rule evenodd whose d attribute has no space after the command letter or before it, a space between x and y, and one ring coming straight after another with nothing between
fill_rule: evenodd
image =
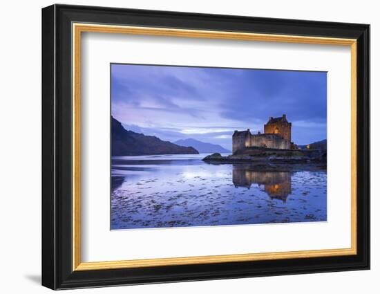
<instances>
[{"instance_id":1,"label":"black outer picture frame around the gold inner edge","mask_svg":"<svg viewBox=\"0 0 380 294\"><path fill-rule=\"evenodd\" d=\"M357 255L73 271L72 23L357 39ZM52 289L370 268L370 26L53 5L42 9L42 285Z\"/></svg>"}]
</instances>

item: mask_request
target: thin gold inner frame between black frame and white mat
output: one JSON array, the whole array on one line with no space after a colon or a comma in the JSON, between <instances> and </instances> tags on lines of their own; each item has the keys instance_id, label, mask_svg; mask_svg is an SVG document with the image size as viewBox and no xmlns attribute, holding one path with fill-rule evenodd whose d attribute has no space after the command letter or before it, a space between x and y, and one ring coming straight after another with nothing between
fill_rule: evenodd
<instances>
[{"instance_id":1,"label":"thin gold inner frame between black frame and white mat","mask_svg":"<svg viewBox=\"0 0 380 294\"><path fill-rule=\"evenodd\" d=\"M184 30L177 28L148 28L138 26L110 26L73 23L73 270L104 270L111 268L138 268L147 266L175 266L184 264L213 264L234 261L269 259L332 257L357 254L357 40L330 37L234 33L213 30ZM80 85L81 85L81 33L117 33L158 35L209 39L236 39L260 42L323 44L350 46L351 49L351 247L342 249L263 252L236 255L209 255L197 257L171 257L133 259L121 261L82 262L80 224Z\"/></svg>"}]
</instances>

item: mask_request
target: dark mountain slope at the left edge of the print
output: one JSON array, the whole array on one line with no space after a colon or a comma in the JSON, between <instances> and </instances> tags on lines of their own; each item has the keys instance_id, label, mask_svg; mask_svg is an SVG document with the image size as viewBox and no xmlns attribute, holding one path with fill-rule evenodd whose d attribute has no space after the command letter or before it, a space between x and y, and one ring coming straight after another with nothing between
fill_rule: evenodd
<instances>
[{"instance_id":1,"label":"dark mountain slope at the left edge of the print","mask_svg":"<svg viewBox=\"0 0 380 294\"><path fill-rule=\"evenodd\" d=\"M153 154L199 154L193 147L183 147L162 141L155 136L145 136L127 131L121 122L111 118L111 149L113 156Z\"/></svg>"}]
</instances>

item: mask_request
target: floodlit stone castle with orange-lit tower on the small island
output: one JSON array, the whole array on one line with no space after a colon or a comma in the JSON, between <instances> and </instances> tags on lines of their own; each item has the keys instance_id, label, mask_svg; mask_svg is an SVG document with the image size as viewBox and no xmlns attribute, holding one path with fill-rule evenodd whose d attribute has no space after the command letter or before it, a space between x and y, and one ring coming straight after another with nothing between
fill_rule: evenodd
<instances>
[{"instance_id":1,"label":"floodlit stone castle with orange-lit tower on the small island","mask_svg":"<svg viewBox=\"0 0 380 294\"><path fill-rule=\"evenodd\" d=\"M288 122L285 114L280 118L270 117L264 125L264 134L251 134L251 131L234 131L232 135L232 152L264 147L274 149L296 149L292 143L292 122Z\"/></svg>"}]
</instances>

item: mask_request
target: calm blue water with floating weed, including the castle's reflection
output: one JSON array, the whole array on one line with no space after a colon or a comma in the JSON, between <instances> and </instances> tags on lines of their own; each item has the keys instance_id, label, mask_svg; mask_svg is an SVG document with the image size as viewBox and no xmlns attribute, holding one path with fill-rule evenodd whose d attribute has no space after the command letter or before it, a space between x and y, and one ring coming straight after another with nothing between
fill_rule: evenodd
<instances>
[{"instance_id":1,"label":"calm blue water with floating weed, including the castle's reflection","mask_svg":"<svg viewBox=\"0 0 380 294\"><path fill-rule=\"evenodd\" d=\"M111 229L326 221L326 171L211 165L207 154L112 158Z\"/></svg>"}]
</instances>

